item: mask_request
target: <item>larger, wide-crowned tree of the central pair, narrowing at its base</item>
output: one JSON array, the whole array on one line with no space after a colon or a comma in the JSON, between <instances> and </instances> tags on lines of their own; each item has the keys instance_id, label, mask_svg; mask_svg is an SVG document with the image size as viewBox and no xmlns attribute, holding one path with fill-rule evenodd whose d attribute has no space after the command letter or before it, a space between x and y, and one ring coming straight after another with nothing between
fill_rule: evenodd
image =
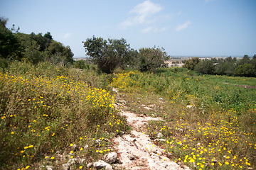
<instances>
[{"instance_id":1,"label":"larger, wide-crowned tree of the central pair, narrowing at its base","mask_svg":"<svg viewBox=\"0 0 256 170\"><path fill-rule=\"evenodd\" d=\"M87 38L82 42L85 47L86 55L89 55L96 62L97 67L107 74L111 74L117 66L124 64L129 50L129 44L124 38L108 39Z\"/></svg>"}]
</instances>

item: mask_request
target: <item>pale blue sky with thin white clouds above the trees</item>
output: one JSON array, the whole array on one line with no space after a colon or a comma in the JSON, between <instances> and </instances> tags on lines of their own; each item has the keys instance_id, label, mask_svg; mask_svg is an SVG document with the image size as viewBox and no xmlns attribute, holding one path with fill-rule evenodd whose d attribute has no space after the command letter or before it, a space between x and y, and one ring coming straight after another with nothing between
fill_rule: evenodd
<instances>
[{"instance_id":1,"label":"pale blue sky with thin white clouds above the trees","mask_svg":"<svg viewBox=\"0 0 256 170\"><path fill-rule=\"evenodd\" d=\"M92 35L124 38L136 50L164 47L171 56L256 54L255 0L0 0L0 16L21 33L50 32L85 57Z\"/></svg>"}]
</instances>

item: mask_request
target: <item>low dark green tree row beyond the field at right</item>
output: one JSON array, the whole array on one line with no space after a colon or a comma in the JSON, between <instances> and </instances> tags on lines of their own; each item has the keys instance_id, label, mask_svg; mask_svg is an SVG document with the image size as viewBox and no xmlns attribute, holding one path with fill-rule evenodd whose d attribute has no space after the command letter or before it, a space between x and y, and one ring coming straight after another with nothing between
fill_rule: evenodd
<instances>
[{"instance_id":1,"label":"low dark green tree row beyond the field at right","mask_svg":"<svg viewBox=\"0 0 256 170\"><path fill-rule=\"evenodd\" d=\"M256 55L252 59L245 55L238 60L236 57L227 57L212 60L200 60L192 57L185 61L183 67L195 70L201 74L218 74L238 77L256 77Z\"/></svg>"}]
</instances>

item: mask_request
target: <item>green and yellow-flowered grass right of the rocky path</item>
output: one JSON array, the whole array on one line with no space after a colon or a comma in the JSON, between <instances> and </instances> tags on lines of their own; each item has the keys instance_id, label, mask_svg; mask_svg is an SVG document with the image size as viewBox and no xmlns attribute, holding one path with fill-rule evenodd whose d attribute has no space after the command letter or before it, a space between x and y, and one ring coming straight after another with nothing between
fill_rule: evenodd
<instances>
[{"instance_id":1,"label":"green and yellow-flowered grass right of the rocky path","mask_svg":"<svg viewBox=\"0 0 256 170\"><path fill-rule=\"evenodd\" d=\"M192 169L255 169L256 89L233 85L255 86L255 78L167 68L115 74L113 80L129 110L164 119L151 121L145 132L164 135L166 142L156 144L170 159Z\"/></svg>"}]
</instances>

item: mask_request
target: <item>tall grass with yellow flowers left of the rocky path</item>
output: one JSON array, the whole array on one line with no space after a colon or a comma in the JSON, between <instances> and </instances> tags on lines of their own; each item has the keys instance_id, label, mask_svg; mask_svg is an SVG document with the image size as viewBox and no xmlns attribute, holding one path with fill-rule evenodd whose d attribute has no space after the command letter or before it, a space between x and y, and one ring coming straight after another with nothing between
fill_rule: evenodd
<instances>
[{"instance_id":1,"label":"tall grass with yellow flowers left of the rocky path","mask_svg":"<svg viewBox=\"0 0 256 170\"><path fill-rule=\"evenodd\" d=\"M92 70L46 62L9 64L0 73L0 169L65 163L56 153L70 153L73 144L80 150L72 157L86 159L79 166L112 150L110 140L103 139L127 131L127 126L106 88L104 78Z\"/></svg>"}]
</instances>

